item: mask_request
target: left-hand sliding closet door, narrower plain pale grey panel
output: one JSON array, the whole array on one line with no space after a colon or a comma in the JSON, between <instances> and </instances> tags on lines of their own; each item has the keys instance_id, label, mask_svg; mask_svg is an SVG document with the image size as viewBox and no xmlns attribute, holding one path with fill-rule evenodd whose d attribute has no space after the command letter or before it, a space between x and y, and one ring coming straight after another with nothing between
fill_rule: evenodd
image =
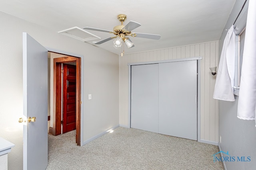
<instances>
[{"instance_id":1,"label":"left-hand sliding closet door, narrower plain pale grey panel","mask_svg":"<svg viewBox=\"0 0 256 170\"><path fill-rule=\"evenodd\" d=\"M131 127L158 133L158 64L132 66Z\"/></svg>"}]
</instances>

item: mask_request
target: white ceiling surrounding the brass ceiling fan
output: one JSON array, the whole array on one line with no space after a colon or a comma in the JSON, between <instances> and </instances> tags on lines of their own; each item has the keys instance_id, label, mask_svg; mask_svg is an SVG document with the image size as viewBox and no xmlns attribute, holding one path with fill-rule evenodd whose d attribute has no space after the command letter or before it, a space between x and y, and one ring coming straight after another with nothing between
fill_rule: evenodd
<instances>
[{"instance_id":1,"label":"white ceiling surrounding the brass ceiling fan","mask_svg":"<svg viewBox=\"0 0 256 170\"><path fill-rule=\"evenodd\" d=\"M56 32L75 26L113 30L114 26L120 25L118 14L126 14L124 25L129 21L141 24L132 32L161 35L159 40L130 37L135 47L125 47L125 53L136 53L219 40L234 2L235 0L2 0L0 11ZM101 37L101 40L113 36L106 32L87 31ZM112 40L96 46L116 54L121 53L121 49L113 47Z\"/></svg>"}]
</instances>

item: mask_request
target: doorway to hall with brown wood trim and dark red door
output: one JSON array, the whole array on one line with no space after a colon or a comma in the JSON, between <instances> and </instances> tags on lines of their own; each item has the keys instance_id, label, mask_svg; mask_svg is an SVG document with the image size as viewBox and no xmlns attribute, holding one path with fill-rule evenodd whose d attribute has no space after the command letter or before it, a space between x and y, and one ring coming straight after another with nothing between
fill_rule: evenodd
<instances>
[{"instance_id":1,"label":"doorway to hall with brown wood trim and dark red door","mask_svg":"<svg viewBox=\"0 0 256 170\"><path fill-rule=\"evenodd\" d=\"M80 146L81 139L81 58L73 57L67 55L58 55L58 58L53 59L53 105L51 114L51 127L49 127L49 133L52 135L60 135L70 130L76 129L76 143ZM70 65L70 68L65 68ZM71 66L73 65L73 66ZM69 84L62 84L62 72L66 72L69 69ZM71 76L72 72L72 76ZM74 75L75 74L75 75ZM67 77L66 77L67 78ZM67 93L66 90L62 90L63 86L69 86L73 89L73 92ZM71 90L72 91L72 90ZM63 92L66 93L63 95ZM67 103L67 98L62 98L62 96L69 95L69 101ZM62 105L63 104L63 105ZM67 104L69 105L69 110L67 113ZM72 107L72 109L71 109ZM66 112L65 112L66 110ZM64 113L65 112L65 113ZM62 114L64 113L64 115ZM65 123L65 125L64 125ZM63 127L63 128L62 128Z\"/></svg>"}]
</instances>

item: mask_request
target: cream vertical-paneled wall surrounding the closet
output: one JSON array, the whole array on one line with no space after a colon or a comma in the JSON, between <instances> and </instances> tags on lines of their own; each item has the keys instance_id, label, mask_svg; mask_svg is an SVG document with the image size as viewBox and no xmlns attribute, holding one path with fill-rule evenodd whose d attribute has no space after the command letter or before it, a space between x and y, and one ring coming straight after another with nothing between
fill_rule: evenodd
<instances>
[{"instance_id":1,"label":"cream vertical-paneled wall surrounding the closet","mask_svg":"<svg viewBox=\"0 0 256 170\"><path fill-rule=\"evenodd\" d=\"M127 50L128 52L128 50ZM188 57L202 57L201 61L201 139L218 142L218 100L212 98L216 76L212 76L210 67L217 66L219 41L172 47L141 53L119 56L119 123L129 124L129 66L128 63L160 61Z\"/></svg>"}]
</instances>

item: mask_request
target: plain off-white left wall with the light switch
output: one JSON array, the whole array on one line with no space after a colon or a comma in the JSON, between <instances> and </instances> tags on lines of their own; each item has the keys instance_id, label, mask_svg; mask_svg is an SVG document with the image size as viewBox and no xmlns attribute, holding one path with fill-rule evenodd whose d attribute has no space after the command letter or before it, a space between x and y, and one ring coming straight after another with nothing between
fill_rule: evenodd
<instances>
[{"instance_id":1,"label":"plain off-white left wall with the light switch","mask_svg":"<svg viewBox=\"0 0 256 170\"><path fill-rule=\"evenodd\" d=\"M23 166L22 32L45 47L84 56L83 141L119 124L117 55L2 12L0 23L0 137L15 144L8 154L10 170Z\"/></svg>"}]
</instances>

